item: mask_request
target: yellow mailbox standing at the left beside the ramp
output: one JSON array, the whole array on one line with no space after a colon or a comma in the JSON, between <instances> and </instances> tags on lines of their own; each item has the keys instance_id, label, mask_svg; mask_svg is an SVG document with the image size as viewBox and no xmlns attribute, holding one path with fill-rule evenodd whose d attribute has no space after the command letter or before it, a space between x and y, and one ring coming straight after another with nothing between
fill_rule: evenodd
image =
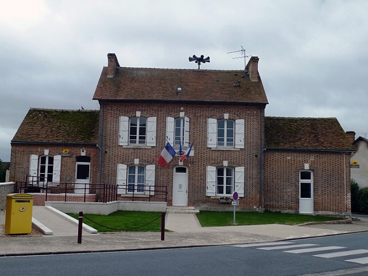
<instances>
[{"instance_id":1,"label":"yellow mailbox standing at the left beside the ramp","mask_svg":"<svg viewBox=\"0 0 368 276\"><path fill-rule=\"evenodd\" d=\"M7 210L5 217L6 234L28 234L32 232L33 195L7 195Z\"/></svg>"}]
</instances>

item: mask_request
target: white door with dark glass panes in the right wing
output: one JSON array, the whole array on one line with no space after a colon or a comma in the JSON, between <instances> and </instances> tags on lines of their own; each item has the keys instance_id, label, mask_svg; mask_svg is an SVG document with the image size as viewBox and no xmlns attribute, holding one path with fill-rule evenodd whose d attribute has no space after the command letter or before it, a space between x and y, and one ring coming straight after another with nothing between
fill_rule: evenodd
<instances>
[{"instance_id":1,"label":"white door with dark glass panes in the right wing","mask_svg":"<svg viewBox=\"0 0 368 276\"><path fill-rule=\"evenodd\" d=\"M313 174L302 171L299 177L299 213L313 214L313 201Z\"/></svg>"}]
</instances>

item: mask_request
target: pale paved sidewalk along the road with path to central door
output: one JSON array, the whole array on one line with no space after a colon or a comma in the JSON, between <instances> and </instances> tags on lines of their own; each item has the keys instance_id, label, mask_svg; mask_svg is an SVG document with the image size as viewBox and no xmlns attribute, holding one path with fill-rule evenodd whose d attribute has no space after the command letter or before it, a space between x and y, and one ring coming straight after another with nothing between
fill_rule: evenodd
<instances>
[{"instance_id":1,"label":"pale paved sidewalk along the road with path to central door","mask_svg":"<svg viewBox=\"0 0 368 276\"><path fill-rule=\"evenodd\" d=\"M161 234L156 232L83 235L82 244L77 243L77 233L74 236L3 236L0 237L0 256L270 242L368 231L368 219L341 225L287 226L274 224L202 228L195 214L167 213L165 228L171 232L165 233L164 241L161 241Z\"/></svg>"}]
</instances>

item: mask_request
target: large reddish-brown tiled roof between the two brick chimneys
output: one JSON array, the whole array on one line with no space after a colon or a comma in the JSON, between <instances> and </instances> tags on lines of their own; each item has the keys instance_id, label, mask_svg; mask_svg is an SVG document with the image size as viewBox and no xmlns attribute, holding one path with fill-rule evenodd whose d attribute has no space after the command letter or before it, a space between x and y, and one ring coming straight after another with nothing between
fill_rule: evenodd
<instances>
[{"instance_id":1,"label":"large reddish-brown tiled roof between the two brick chimneys","mask_svg":"<svg viewBox=\"0 0 368 276\"><path fill-rule=\"evenodd\" d=\"M261 78L252 82L241 70L118 67L114 78L106 76L104 67L93 99L268 103Z\"/></svg>"}]
</instances>

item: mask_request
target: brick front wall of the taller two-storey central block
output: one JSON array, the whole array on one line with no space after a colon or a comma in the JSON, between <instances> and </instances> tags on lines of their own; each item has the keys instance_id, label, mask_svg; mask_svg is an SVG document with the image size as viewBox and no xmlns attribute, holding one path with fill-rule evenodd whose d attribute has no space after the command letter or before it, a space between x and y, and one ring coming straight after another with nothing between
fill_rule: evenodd
<instances>
[{"instance_id":1,"label":"brick front wall of the taller two-storey central block","mask_svg":"<svg viewBox=\"0 0 368 276\"><path fill-rule=\"evenodd\" d=\"M179 112L185 112L190 118L190 142L195 140L194 156L183 165L189 168L188 205L223 206L218 199L206 196L206 165L216 165L227 160L234 167L245 167L245 197L240 199L240 207L251 207L259 202L259 149L260 116L264 106L240 105L201 105L201 104L146 104L146 103L108 103L100 102L104 109L104 143L102 181L116 183L118 163L131 164L134 158L140 163L156 164L155 185L167 186L168 205L172 204L173 170L178 157L164 168L157 164L157 158L166 143L166 117L178 118ZM157 117L156 146L152 148L130 148L118 146L119 116L129 116L136 111L142 117ZM262 112L262 113L261 113ZM245 120L245 148L240 150L212 150L207 148L207 119L221 119L227 113L233 120ZM262 115L260 115L262 114Z\"/></svg>"}]
</instances>

